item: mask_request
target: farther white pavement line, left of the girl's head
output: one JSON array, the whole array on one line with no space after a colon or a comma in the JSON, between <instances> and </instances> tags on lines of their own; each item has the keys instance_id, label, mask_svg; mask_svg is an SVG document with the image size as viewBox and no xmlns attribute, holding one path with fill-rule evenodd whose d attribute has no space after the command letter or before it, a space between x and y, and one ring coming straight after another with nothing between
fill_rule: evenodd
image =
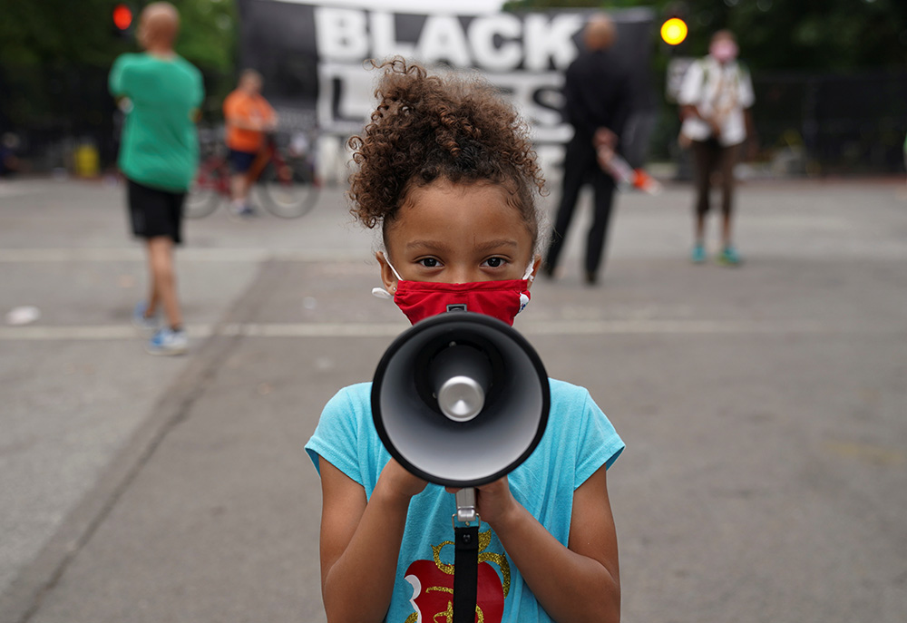
<instances>
[{"instance_id":1,"label":"farther white pavement line, left of the girl's head","mask_svg":"<svg viewBox=\"0 0 907 623\"><path fill-rule=\"evenodd\" d=\"M347 262L372 258L371 252L338 248L180 248L180 261L263 262L276 259L288 262ZM2 248L0 263L29 262L140 262L142 248Z\"/></svg>"}]
</instances>

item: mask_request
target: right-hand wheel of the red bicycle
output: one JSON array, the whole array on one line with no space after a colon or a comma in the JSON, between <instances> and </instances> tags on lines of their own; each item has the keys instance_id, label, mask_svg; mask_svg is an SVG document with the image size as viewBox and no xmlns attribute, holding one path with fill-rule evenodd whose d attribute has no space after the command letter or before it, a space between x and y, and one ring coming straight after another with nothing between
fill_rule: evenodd
<instances>
[{"instance_id":1,"label":"right-hand wheel of the red bicycle","mask_svg":"<svg viewBox=\"0 0 907 623\"><path fill-rule=\"evenodd\" d=\"M258 180L256 194L261 205L281 219L297 219L315 207L319 185L315 170L305 159L272 162Z\"/></svg>"}]
</instances>

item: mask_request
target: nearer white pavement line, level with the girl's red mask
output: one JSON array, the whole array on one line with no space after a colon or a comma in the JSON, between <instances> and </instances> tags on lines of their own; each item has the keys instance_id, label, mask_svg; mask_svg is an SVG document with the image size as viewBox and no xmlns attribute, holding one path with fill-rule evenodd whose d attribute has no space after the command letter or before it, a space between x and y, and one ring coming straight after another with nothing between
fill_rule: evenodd
<instances>
[{"instance_id":1,"label":"nearer white pavement line, level with the girl's red mask","mask_svg":"<svg viewBox=\"0 0 907 623\"><path fill-rule=\"evenodd\" d=\"M397 336L402 323L232 323L188 326L191 337L385 337ZM836 325L810 321L746 320L551 320L526 323L523 333L534 336L654 335L654 334L788 334L788 333L900 333L878 326ZM3 341L135 339L132 326L2 326Z\"/></svg>"}]
</instances>

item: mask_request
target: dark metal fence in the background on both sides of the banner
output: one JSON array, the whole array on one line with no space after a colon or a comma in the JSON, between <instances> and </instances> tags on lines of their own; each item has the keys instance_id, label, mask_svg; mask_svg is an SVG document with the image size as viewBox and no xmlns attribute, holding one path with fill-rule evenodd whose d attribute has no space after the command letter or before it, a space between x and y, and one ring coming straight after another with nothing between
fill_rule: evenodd
<instances>
[{"instance_id":1,"label":"dark metal fence in the background on both sides of the banner","mask_svg":"<svg viewBox=\"0 0 907 623\"><path fill-rule=\"evenodd\" d=\"M35 171L73 169L90 143L112 167L118 115L107 68L0 67L0 133L19 139L17 155ZM754 73L758 163L778 176L889 174L904 170L907 73ZM231 76L205 74L203 116L219 122ZM649 161L682 161L677 107L663 104Z\"/></svg>"}]
</instances>

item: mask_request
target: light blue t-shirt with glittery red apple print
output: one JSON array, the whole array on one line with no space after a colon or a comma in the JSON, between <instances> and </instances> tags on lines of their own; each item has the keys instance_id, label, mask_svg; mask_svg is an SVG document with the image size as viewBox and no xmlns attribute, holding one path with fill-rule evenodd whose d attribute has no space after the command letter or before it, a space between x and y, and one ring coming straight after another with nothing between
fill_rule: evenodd
<instances>
[{"instance_id":1,"label":"light blue t-shirt with glittery red apple print","mask_svg":"<svg viewBox=\"0 0 907 623\"><path fill-rule=\"evenodd\" d=\"M566 546L573 492L602 465L610 467L624 443L586 389L553 379L549 384L548 426L538 447L508 474L508 481L513 497ZM320 455L361 484L368 498L390 460L375 432L371 391L370 383L340 390L306 444L316 468ZM455 512L453 494L440 485L429 484L410 502L387 623L419 620L417 610L421 620L433 621L435 614L447 611L453 589ZM484 623L551 621L510 564L501 541L487 524L480 532L477 601Z\"/></svg>"}]
</instances>

